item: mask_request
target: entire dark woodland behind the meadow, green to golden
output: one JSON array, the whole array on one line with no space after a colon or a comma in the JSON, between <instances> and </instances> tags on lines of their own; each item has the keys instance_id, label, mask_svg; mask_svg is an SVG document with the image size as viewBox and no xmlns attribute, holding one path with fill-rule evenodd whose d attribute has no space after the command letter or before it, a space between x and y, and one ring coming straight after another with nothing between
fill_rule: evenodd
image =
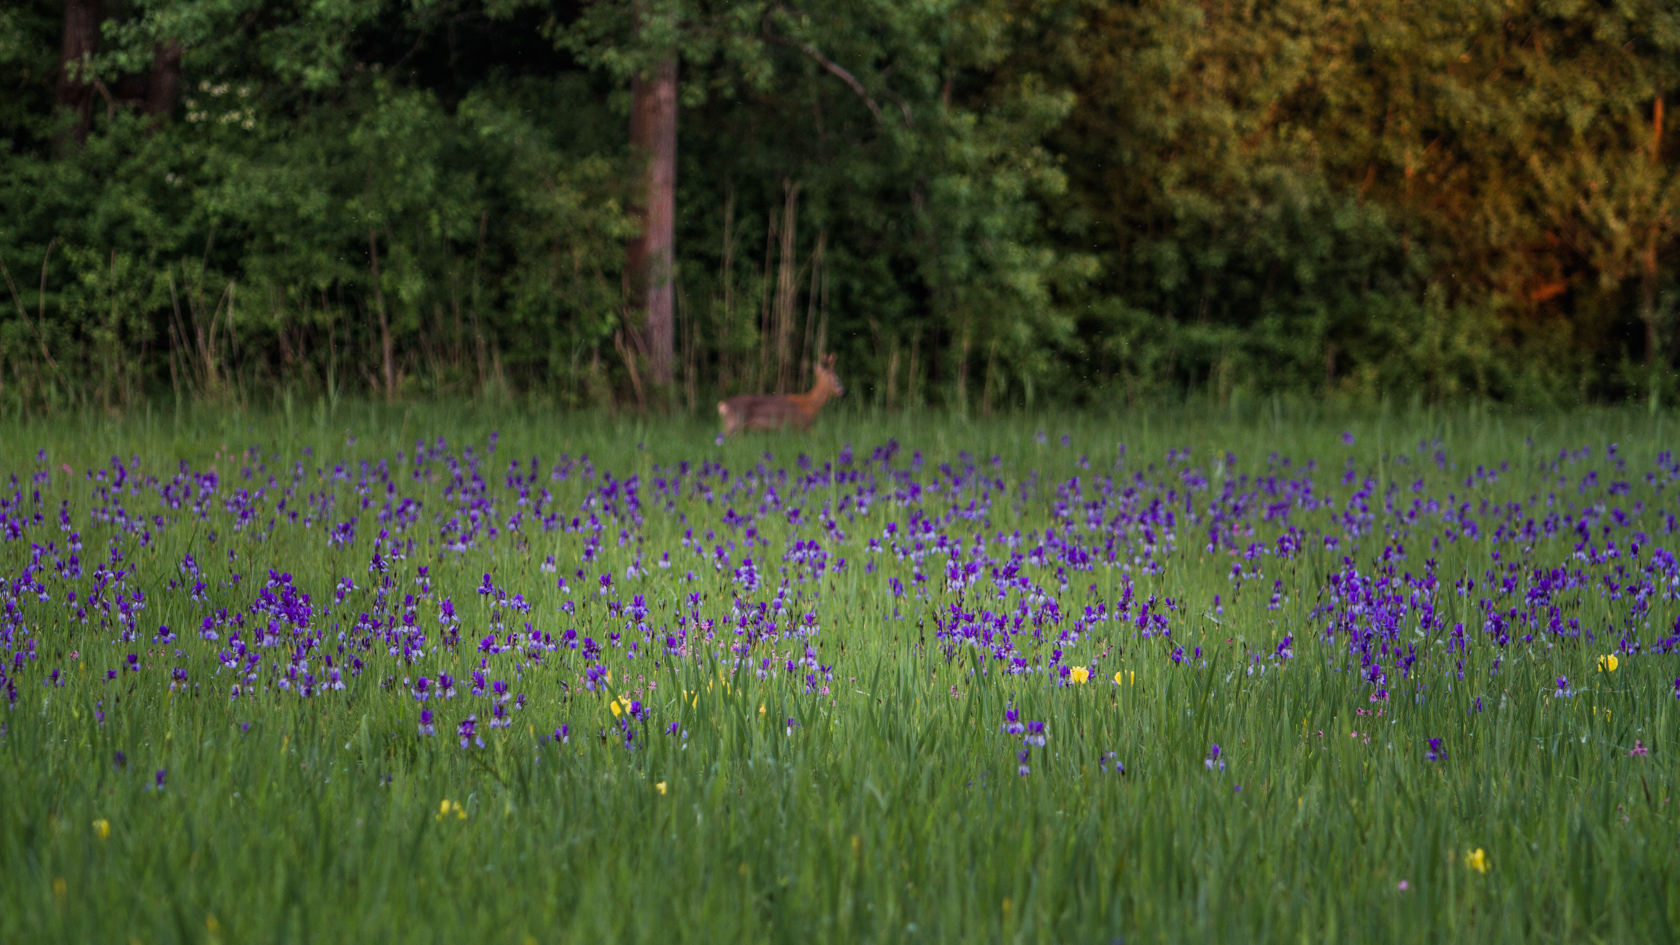
<instances>
[{"instance_id":1,"label":"entire dark woodland behind the meadow, green to golden","mask_svg":"<svg viewBox=\"0 0 1680 945\"><path fill-rule=\"evenodd\" d=\"M0 409L709 410L825 350L882 407L1655 409L1677 91L1673 0L8 0Z\"/></svg>"}]
</instances>

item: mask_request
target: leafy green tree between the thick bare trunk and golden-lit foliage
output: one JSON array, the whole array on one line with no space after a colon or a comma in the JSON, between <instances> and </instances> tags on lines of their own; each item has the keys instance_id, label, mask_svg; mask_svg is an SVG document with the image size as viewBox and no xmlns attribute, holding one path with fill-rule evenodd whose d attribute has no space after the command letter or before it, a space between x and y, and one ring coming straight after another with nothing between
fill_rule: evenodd
<instances>
[{"instance_id":1,"label":"leafy green tree between the thick bare trunk and golden-lit foliage","mask_svg":"<svg viewBox=\"0 0 1680 945\"><path fill-rule=\"evenodd\" d=\"M1026 377L1045 367L1038 341L1062 331L1048 281L1077 276L1082 266L1037 245L1033 198L1062 187L1040 140L1067 114L1070 96L1033 76L991 79L1013 18L1010 3L840 0L806 8L758 0L598 0L553 29L580 61L628 81L637 143L648 140L640 116L655 87L674 89L684 108L704 113L685 124L707 145L692 156L704 180L684 192L704 197L719 217L727 215L719 214L726 205L739 209L736 197L778 217L769 224L778 237L768 244L778 247L781 262L774 293L764 289L766 299L776 299L766 309L790 309L800 277L811 279L811 299L828 298L815 282L818 266L823 279L833 274L837 298L897 294L889 308L919 309L917 325L874 328L877 343L860 353L885 363L885 350L899 338L912 346L924 336L954 341L936 348L937 356L921 368L944 370L942 382L961 400L971 387L971 360L988 363L988 380L973 385L981 390L991 390L990 368L1001 385L1005 373ZM657 76L672 81L664 86ZM655 148L637 151L662 158ZM655 185L672 178L659 172L659 160L650 165L637 185L648 209L642 239L662 239L652 227L660 205ZM690 217L677 210L679 219ZM822 264L815 245L808 256L795 245L795 219L825 247ZM640 308L657 370L669 323L648 304L659 299L654 289L662 281L642 252L640 244L632 247L630 271L645 269L648 277L632 276L632 284L648 286ZM768 269L769 261L761 272L766 282ZM879 299L869 304L874 319L882 306ZM758 326L776 335L774 341L759 338L761 346L774 346L783 367L774 372L776 387L790 383L790 355L803 358L791 351L803 341L788 336L790 321L778 314ZM761 385L769 382L769 372L756 375Z\"/></svg>"}]
</instances>

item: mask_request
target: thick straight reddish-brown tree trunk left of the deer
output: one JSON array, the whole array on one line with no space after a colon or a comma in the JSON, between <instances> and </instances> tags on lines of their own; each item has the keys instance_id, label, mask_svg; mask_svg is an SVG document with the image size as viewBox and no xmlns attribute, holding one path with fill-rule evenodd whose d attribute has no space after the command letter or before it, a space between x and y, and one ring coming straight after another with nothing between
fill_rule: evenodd
<instances>
[{"instance_id":1,"label":"thick straight reddish-brown tree trunk left of the deer","mask_svg":"<svg viewBox=\"0 0 1680 945\"><path fill-rule=\"evenodd\" d=\"M648 380L669 387L675 331L677 209L677 61L660 62L652 76L630 82L630 148L647 160L647 190L633 209L642 235L625 247L630 306L643 313Z\"/></svg>"}]
</instances>

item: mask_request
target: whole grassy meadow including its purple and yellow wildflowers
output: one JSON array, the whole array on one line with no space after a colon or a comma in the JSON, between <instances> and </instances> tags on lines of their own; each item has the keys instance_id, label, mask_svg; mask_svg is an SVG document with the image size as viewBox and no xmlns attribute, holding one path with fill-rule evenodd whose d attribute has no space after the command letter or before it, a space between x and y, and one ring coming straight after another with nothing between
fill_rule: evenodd
<instances>
[{"instance_id":1,"label":"whole grassy meadow including its purple and yellow wildflowers","mask_svg":"<svg viewBox=\"0 0 1680 945\"><path fill-rule=\"evenodd\" d=\"M1672 430L0 425L0 942L1668 942Z\"/></svg>"}]
</instances>

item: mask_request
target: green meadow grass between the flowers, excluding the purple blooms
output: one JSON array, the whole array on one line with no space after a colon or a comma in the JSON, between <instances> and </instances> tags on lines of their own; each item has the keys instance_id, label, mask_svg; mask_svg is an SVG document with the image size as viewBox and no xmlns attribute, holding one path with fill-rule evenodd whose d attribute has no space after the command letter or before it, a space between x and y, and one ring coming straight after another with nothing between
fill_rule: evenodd
<instances>
[{"instance_id":1,"label":"green meadow grass between the flowers, excluding the purple blooms","mask_svg":"<svg viewBox=\"0 0 1680 945\"><path fill-rule=\"evenodd\" d=\"M69 501L81 531L86 573L67 582L47 567L45 604L27 592L5 595L17 599L39 649L13 673L17 703L0 710L0 942L1668 942L1680 928L1670 763L1670 752L1680 750L1673 694L1680 657L1628 652L1614 673L1594 673L1628 622L1628 600L1596 590L1578 594L1562 610L1598 632L1596 641L1537 634L1532 644L1497 647L1478 631L1475 595L1457 595L1453 582L1477 577L1478 595L1492 552L1551 567L1569 560L1576 536L1495 543L1495 520L1477 511L1485 521L1478 538L1431 550L1440 516L1404 520L1418 479L1416 494L1443 504L1448 493L1477 508L1483 499L1492 508L1524 503L1529 511L1519 518L1571 503L1625 508L1633 525L1614 538L1625 545L1635 526L1646 531L1640 560L1648 560L1651 546L1677 543L1663 531L1673 488L1641 479L1667 446L1668 424L1645 412L1384 417L1299 407L986 422L838 414L803 437L722 447L704 424L462 405L296 415L195 410L5 425L0 483L18 476L25 511L37 509L29 481L39 469L35 449L47 451L45 467L55 474L39 486L44 525L0 541L0 577L13 585L32 543L57 541L62 552L60 501ZM1043 444L1035 441L1038 429L1048 434ZM566 452L588 454L617 478L638 474L643 525L608 523L590 565L578 563L583 536L531 523L472 552L445 553L428 540L438 535L433 516L445 509L447 479L417 483L403 471L396 494L418 498L423 511L408 531L415 553L391 568L395 594L400 600L412 592L415 568L427 565L435 592L418 602L420 624L432 634L437 600L452 599L465 627L459 651L437 652L433 639L432 654L403 666L376 649L363 656L366 671L346 674L344 691L307 700L274 689L277 676L265 666L269 688L228 700L234 679L227 671L217 676L213 659L227 641L202 641L195 627L215 607L250 620L269 568L291 572L311 594L321 652L334 652L339 626L348 629L373 607L378 575L368 573L368 560L385 496L375 491L376 503L358 513L354 476L323 483L316 469L395 461L418 437L445 436L457 454L467 444L482 454L491 430L499 432L497 452L482 472L501 520L517 496L504 488L507 462L528 466L533 456L541 457L538 486L553 491L554 508L568 521L588 516L580 503L603 481L553 483L549 467ZM1342 444L1344 430L1356 434L1354 446ZM1245 583L1240 597L1228 577L1231 555L1203 550L1205 526L1176 528L1178 550L1161 573L1099 562L1089 572L1070 570L1068 589L1058 590L1055 563L1026 565L1023 573L1060 597L1062 626L1085 604L1112 605L1127 573L1139 602L1149 594L1179 602L1171 642L1139 639L1129 622L1100 624L1068 647L1070 659L1097 661L1090 683L1055 686L1042 673L1006 676L973 649L948 659L934 636L936 614L953 602L942 590L946 558L927 558L926 599L914 590L892 599L889 575L914 587L909 563L870 555L864 543L889 521L907 526L912 508L944 513L953 498L924 493L919 506L894 503L882 478L867 515L840 518L843 543L825 538L820 526L764 513L754 528L766 545L743 552L759 560L764 577L764 590L744 595L754 602L768 600L783 580L776 568L795 536L822 538L830 555L848 558L845 572L790 585L798 610L818 614L813 646L833 666L828 696L806 693L800 678L780 669L768 679L731 671L716 647L694 646L689 657L670 659L657 642L643 642L635 661L606 647L615 691L642 686L638 698L652 711L637 733L638 748L627 750L612 731L596 735L613 725L610 696L580 691L576 651L522 669L502 654L491 657L487 674L509 681L529 705L512 713L511 728L480 723L484 748L455 743L454 725L469 708L487 718L489 703L465 693L480 659L474 644L491 620L474 590L484 573L533 605L509 620L509 631L531 620L556 637L575 627L605 641L620 620L595 594L601 570L628 585L627 595L645 594L654 627L672 627L690 592L704 595L701 614L721 624L734 597L729 570L702 567L680 540L687 528L696 535L712 528L711 545L741 541L744 531L722 523L721 501L684 493L667 509L652 486L657 467L714 459L736 476L758 462L786 469L790 486L776 486L778 499L803 504L811 521L855 484L798 493L796 456L810 454L822 467L850 442L867 466L869 451L889 437L904 447L897 469L909 467L912 451L924 454L916 474L924 486L941 462L958 466L961 451L1003 479L984 523L958 518L942 531L966 541L983 533L1005 558L1008 550L993 541L1000 531L1062 531L1052 509L1057 488L1072 476L1082 481L1082 501L1097 499L1095 483L1105 474L1131 483L1142 472L1142 504L1168 488L1183 503L1179 466L1166 464L1171 447L1191 447L1189 467L1211 484L1194 493L1198 508L1226 479L1287 478L1309 459L1317 462L1315 489L1337 504L1294 513L1307 550L1287 563L1263 562L1265 577ZM1453 469L1436 467L1433 444L1418 451L1420 441L1435 439ZM1126 464L1114 472L1121 442ZM1625 476L1606 461L1608 442L1620 442ZM1591 459L1542 467L1561 449L1586 444ZM1235 467L1225 466L1226 451L1235 452ZM1268 466L1273 452L1278 464ZM195 472L213 464L220 474L207 521L188 508L165 508L155 488L123 496L131 513L165 516L165 525L150 526L144 546L138 533L116 540L134 570L128 587L146 597L138 644L118 642L97 615L86 626L72 622L64 604L67 589L86 595L92 587L94 567L118 533L89 518L102 503L94 501L87 471L108 466L111 456L138 456L141 474L163 481L181 461ZM1079 466L1080 456L1089 456L1089 469ZM297 501L333 491L334 521L361 518L356 543L329 548L321 525L306 530L284 515L269 530L277 491L257 503L254 525L235 531L223 501L265 481L260 472L250 483L239 474L259 457L281 488L302 459ZM1282 457L1292 459L1287 471ZM1374 518L1362 540L1331 552L1322 535L1341 535L1332 516L1346 511L1357 488L1342 484L1349 457L1359 478L1378 486ZM1478 464L1500 462L1509 469L1497 483L1463 484ZM1578 491L1586 469L1599 471L1596 491ZM1604 486L1623 478L1631 493L1608 496ZM711 484L722 491L716 479ZM1398 488L1396 511L1381 503L1389 484ZM10 494L0 488L0 498ZM1547 494L1556 494L1552 509ZM971 498L958 496L956 504ZM758 511L759 501L761 491L734 508ZM1178 515L1183 520L1183 509ZM1245 521L1255 530L1245 543L1272 541L1280 531L1278 521L1258 513ZM1342 555L1362 572L1373 568L1384 530L1394 530L1388 538L1404 533L1410 558L1399 572L1421 573L1423 558L1438 560L1446 626L1463 620L1472 646L1458 679L1460 656L1446 652L1446 634L1413 637L1408 629L1406 641L1420 641L1420 661L1410 679L1389 681L1386 703L1373 703L1346 642L1320 641L1324 622L1312 609L1324 602L1327 575ZM627 582L625 567L638 550L650 573ZM188 552L203 565L208 602L168 587L180 580ZM662 552L672 555L670 570L654 567ZM575 615L559 610L554 575L541 570L548 555L561 575L590 572L588 583L571 582L581 604ZM52 560L52 553L44 558ZM739 560L732 555L732 563ZM869 560L877 573L865 573ZM699 582L679 583L689 568ZM225 587L234 572L244 580ZM1620 583L1636 572L1630 562ZM1591 573L1616 575L1613 565ZM338 607L333 587L341 577L360 590ZM1284 582L1287 602L1268 610L1273 580ZM1213 612L1215 594L1223 595L1223 614ZM971 610L1006 605L1013 599L968 600ZM1675 600L1660 587L1631 632L1650 646L1670 632L1675 614ZM175 627L180 642L151 642L160 624ZM1295 657L1262 661L1265 669L1248 674L1248 654L1270 652L1285 634L1295 639ZM1023 647L1042 659L1053 634L1045 641ZM1174 646L1201 646L1206 663L1173 663ZM786 649L774 646L778 656ZM104 673L128 652L139 654L144 668L108 683ZM0 654L10 657L8 649ZM311 656L316 673L318 657ZM168 688L173 666L190 673L178 691ZM976 674L976 666L986 671ZM54 668L64 671L64 686L44 684ZM459 679L462 694L428 703L438 706L437 736L422 738L418 705L403 678L438 669ZM1136 674L1136 683L1116 686L1116 671ZM1551 698L1559 674L1579 689L1574 698ZM1475 711L1477 698L1485 711ZM1023 720L1047 723L1047 745L1033 748L1028 777L1016 773L1020 740L1000 733L1011 705ZM1381 716L1361 715L1378 708ZM796 720L791 733L788 718ZM672 721L685 738L664 735ZM571 730L568 745L541 738L561 723ZM1351 731L1369 733L1369 742ZM1425 760L1428 738L1443 740L1443 762ZM1650 755L1630 755L1636 740ZM1210 743L1225 750L1223 772L1203 763ZM126 767L114 765L118 752ZM1109 753L1124 762L1124 775L1104 768ZM158 768L168 772L166 787L148 790ZM462 814L450 807L440 816L445 800ZM109 824L108 837L96 821ZM1487 873L1465 863L1478 847Z\"/></svg>"}]
</instances>

